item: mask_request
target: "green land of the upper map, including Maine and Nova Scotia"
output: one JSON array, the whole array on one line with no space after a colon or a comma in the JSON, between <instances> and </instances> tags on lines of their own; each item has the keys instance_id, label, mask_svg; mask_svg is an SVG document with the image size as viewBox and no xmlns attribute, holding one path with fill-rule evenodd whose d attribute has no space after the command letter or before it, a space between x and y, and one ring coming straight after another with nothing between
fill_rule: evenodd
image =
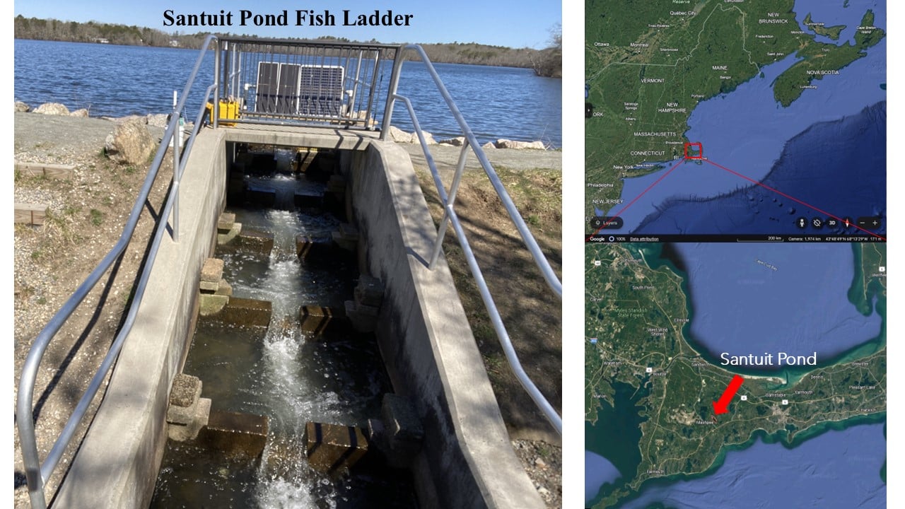
<instances>
[{"instance_id":1,"label":"green land of the upper map, including Maine and Nova Scotia","mask_svg":"<svg viewBox=\"0 0 905 509\"><path fill-rule=\"evenodd\" d=\"M885 32L863 15L855 43L818 43L795 19L794 0L626 4L586 0L586 216L623 203L624 178L683 157L691 111L795 54L776 80L787 107L866 56Z\"/></svg>"}]
</instances>

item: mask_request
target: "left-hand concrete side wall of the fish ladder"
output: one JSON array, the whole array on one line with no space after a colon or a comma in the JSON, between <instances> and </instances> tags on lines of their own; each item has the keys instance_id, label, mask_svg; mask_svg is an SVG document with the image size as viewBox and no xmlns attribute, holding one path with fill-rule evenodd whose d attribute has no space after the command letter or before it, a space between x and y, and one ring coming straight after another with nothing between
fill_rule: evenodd
<instances>
[{"instance_id":1,"label":"left-hand concrete side wall of the fish ladder","mask_svg":"<svg viewBox=\"0 0 905 509\"><path fill-rule=\"evenodd\" d=\"M198 274L225 200L224 130L202 130L180 185L179 243L165 234L110 385L53 507L146 508L167 443L167 399L185 358ZM184 270L181 270L184 268Z\"/></svg>"}]
</instances>

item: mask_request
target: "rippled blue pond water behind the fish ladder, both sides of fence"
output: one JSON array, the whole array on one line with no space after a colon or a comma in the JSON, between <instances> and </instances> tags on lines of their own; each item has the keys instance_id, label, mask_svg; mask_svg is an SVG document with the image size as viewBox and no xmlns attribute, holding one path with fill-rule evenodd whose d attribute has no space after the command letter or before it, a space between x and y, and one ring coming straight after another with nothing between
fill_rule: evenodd
<instances>
[{"instance_id":1,"label":"rippled blue pond water behind the fish ladder, both sides of fence","mask_svg":"<svg viewBox=\"0 0 905 509\"><path fill-rule=\"evenodd\" d=\"M197 56L196 50L180 48L16 39L15 100L33 107L61 102L70 110L87 108L92 117L167 113L172 110L173 91L182 92ZM384 93L388 64L383 69ZM434 67L481 143L539 139L562 147L561 80L511 67L456 63L435 63ZM189 111L201 106L201 94L213 75L214 54L208 52L199 72L201 80L189 95ZM422 129L436 139L461 134L424 63L403 64L399 93L413 102ZM381 109L378 119L382 113ZM413 130L401 103L395 107L393 124Z\"/></svg>"}]
</instances>

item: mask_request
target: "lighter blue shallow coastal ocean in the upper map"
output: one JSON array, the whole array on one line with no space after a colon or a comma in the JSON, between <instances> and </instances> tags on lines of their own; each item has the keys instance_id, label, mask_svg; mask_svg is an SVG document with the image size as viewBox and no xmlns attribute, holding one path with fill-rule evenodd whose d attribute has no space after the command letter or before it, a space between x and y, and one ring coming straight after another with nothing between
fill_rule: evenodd
<instances>
[{"instance_id":1,"label":"lighter blue shallow coastal ocean in the upper map","mask_svg":"<svg viewBox=\"0 0 905 509\"><path fill-rule=\"evenodd\" d=\"M834 5L832 8L827 7L831 4ZM844 19L848 24L856 25L864 11L872 8L875 14L874 24L886 28L885 3L851 4L845 9L847 17ZM799 20L810 12L814 20L829 24L831 21L828 20L838 19L830 14L837 13L842 8L841 5L842 2L796 2L795 10L799 14ZM845 34L849 32L844 32L843 37ZM845 67L840 75L825 76L823 80L814 81L818 87L816 90L805 91L789 107L783 108L774 99L773 82L795 63L796 58L793 54L780 62L767 65L762 69L762 75L743 83L737 90L700 102L691 112L690 128L685 133L688 139L702 143L704 156L710 160L759 181L774 168L789 139L810 129L815 123L857 115L865 108L886 100L886 91L881 88L881 84L886 82L885 39L868 49L866 57ZM826 143L832 144L834 141L830 139ZM666 161L662 164L665 168L661 171L624 180L622 198L625 203L638 197L675 163ZM870 171L878 172L884 169L869 168ZM862 171L861 167L858 171L845 167L838 168L833 173L856 178ZM748 180L708 163L685 162L621 214L624 219L622 231L635 231L643 224L645 217L655 215L672 201L718 197L752 185ZM885 186L875 189L874 196L874 207L885 209ZM844 211L839 214L834 212L840 208L834 203L823 205L826 207L825 211L836 216L846 214ZM622 207L614 206L605 212L613 215ZM692 222L692 215L710 214L710 210L692 207L683 209L682 214L679 227ZM794 227L793 225L792 228ZM736 232L748 233L746 230Z\"/></svg>"}]
</instances>

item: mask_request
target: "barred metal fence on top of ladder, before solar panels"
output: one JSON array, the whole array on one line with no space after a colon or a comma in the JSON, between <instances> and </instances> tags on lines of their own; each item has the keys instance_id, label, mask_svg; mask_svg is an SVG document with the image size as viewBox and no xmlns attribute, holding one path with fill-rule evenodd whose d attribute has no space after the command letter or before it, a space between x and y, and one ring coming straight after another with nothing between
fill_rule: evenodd
<instances>
[{"instance_id":1,"label":"barred metal fence on top of ladder, before solar panels","mask_svg":"<svg viewBox=\"0 0 905 509\"><path fill-rule=\"evenodd\" d=\"M218 45L217 97L239 118L221 119L224 103L214 101L215 127L228 121L375 130L376 112L385 106L384 62L394 62L399 51L390 44L237 37L222 37Z\"/></svg>"}]
</instances>

